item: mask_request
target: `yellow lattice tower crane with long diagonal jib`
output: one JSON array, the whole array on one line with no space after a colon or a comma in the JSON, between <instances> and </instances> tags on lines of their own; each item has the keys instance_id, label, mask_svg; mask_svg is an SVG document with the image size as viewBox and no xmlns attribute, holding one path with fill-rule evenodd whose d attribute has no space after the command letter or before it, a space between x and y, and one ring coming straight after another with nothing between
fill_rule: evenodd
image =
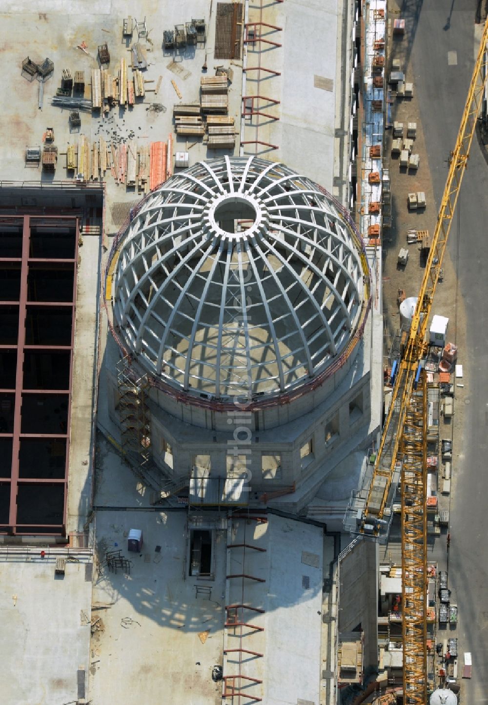
<instances>
[{"instance_id":1,"label":"yellow lattice tower crane with long diagonal jib","mask_svg":"<svg viewBox=\"0 0 488 705\"><path fill-rule=\"evenodd\" d=\"M401 484L403 580L403 702L427 705L427 381L425 332L459 189L487 82L488 20L484 25L449 173L432 237L425 275L384 422L372 479L358 527L360 534L387 532L396 483ZM387 510L388 511L385 511Z\"/></svg>"}]
</instances>

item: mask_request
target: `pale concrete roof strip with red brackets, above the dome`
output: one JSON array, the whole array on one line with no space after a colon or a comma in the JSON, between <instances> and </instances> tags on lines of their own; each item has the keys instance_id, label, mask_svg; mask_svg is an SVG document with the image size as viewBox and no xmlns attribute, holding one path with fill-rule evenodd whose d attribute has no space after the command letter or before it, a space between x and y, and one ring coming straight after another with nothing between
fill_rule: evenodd
<instances>
[{"instance_id":1,"label":"pale concrete roof strip with red brackets, above the dome","mask_svg":"<svg viewBox=\"0 0 488 705\"><path fill-rule=\"evenodd\" d=\"M244 87L246 95L261 92L267 99L280 101L273 106L268 100L261 100L261 109L280 119L246 118L244 140L276 145L278 149L258 145L258 153L284 161L334 192L340 200L342 190L334 189L334 176L340 179L344 168L349 167L347 155L346 163L342 163L340 150L344 146L336 138L336 130L344 129L344 119L349 130L350 76L346 75L342 59L348 6L346 1L335 0L308 0L306 4L287 0L266 6L263 22L281 27L282 31L263 27L261 34L282 47L263 44L261 66L280 75L263 69L263 80L258 83L258 72L249 71L249 67L258 66L259 43L249 44ZM259 20L259 6L250 7L249 22ZM260 28L256 27L256 35L259 33ZM349 36L344 38L349 40ZM254 154L254 149L255 145L244 145L242 154Z\"/></svg>"}]
</instances>

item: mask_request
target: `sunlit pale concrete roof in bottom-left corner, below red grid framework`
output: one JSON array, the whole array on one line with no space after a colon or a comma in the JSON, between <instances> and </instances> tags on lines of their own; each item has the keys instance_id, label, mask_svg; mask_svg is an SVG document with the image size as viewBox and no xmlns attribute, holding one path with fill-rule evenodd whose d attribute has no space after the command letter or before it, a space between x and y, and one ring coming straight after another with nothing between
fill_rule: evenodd
<instances>
[{"instance_id":1,"label":"sunlit pale concrete roof in bottom-left corner, below red grid framework","mask_svg":"<svg viewBox=\"0 0 488 705\"><path fill-rule=\"evenodd\" d=\"M0 551L2 703L65 703L86 697L89 558L67 563L61 577L54 575L56 558L41 558L41 548L30 549L27 559L8 557L7 551Z\"/></svg>"}]
</instances>

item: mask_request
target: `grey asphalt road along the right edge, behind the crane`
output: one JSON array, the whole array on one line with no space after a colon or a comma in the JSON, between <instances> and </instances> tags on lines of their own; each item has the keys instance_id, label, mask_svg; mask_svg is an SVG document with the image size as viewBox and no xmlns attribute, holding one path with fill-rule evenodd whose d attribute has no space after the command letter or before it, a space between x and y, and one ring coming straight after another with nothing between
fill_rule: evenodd
<instances>
[{"instance_id":1,"label":"grey asphalt road along the right edge, behind the crane","mask_svg":"<svg viewBox=\"0 0 488 705\"><path fill-rule=\"evenodd\" d=\"M476 8L476 0L406 1L403 8L415 26L411 56L436 207L473 73ZM449 587L459 606L460 667L463 651L473 655L473 678L462 681L463 702L469 705L488 702L487 186L488 165L475 137L448 245L458 274L456 297L465 305L467 337L457 341L465 387L456 390L456 404L463 408L453 440ZM456 301L446 314L455 321Z\"/></svg>"}]
</instances>

